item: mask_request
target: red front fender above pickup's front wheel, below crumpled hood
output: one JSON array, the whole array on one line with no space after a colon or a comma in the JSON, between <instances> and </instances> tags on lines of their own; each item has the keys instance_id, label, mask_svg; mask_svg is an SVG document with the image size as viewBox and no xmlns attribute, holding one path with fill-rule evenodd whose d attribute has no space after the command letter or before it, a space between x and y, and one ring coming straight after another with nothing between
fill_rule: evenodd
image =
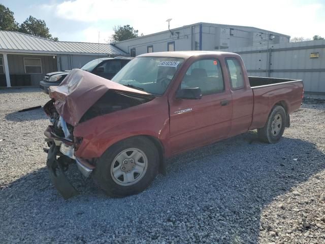
<instances>
[{"instance_id":1,"label":"red front fender above pickup's front wheel, below crumpled hood","mask_svg":"<svg viewBox=\"0 0 325 244\"><path fill-rule=\"evenodd\" d=\"M75 151L76 157L99 158L116 142L140 135L156 138L164 147L168 147L168 104L159 100L95 117L76 126L74 136L83 138Z\"/></svg>"}]
</instances>

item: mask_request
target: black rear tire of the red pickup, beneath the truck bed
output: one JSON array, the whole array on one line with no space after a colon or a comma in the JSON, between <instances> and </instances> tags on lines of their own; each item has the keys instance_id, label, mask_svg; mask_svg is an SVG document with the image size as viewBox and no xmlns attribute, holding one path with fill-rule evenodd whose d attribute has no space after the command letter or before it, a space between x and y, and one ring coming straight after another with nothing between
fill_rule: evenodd
<instances>
[{"instance_id":1,"label":"black rear tire of the red pickup, beneath the truck bed","mask_svg":"<svg viewBox=\"0 0 325 244\"><path fill-rule=\"evenodd\" d=\"M273 121L274 121L274 119L277 119L277 118L275 118L275 116L277 116L277 118L281 117L281 119L282 119L281 126L278 127L277 130L279 130L279 131L276 134L275 134L275 130L272 129L272 126L274 128ZM282 106L275 106L272 109L265 126L263 128L257 129L257 134L258 134L259 140L266 142L266 143L278 142L283 135L284 128L286 125L286 118L287 118L287 116L286 116L284 108Z\"/></svg>"}]
</instances>

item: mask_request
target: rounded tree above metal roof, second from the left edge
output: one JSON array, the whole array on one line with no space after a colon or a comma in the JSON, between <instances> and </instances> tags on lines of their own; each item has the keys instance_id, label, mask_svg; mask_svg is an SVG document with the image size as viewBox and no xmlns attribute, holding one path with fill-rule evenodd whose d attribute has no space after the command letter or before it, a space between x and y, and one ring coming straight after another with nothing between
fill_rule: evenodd
<instances>
[{"instance_id":1,"label":"rounded tree above metal roof, second from the left edge","mask_svg":"<svg viewBox=\"0 0 325 244\"><path fill-rule=\"evenodd\" d=\"M19 26L19 32L29 34L32 36L42 37L51 39L53 41L58 41L57 37L52 37L49 32L49 28L46 26L44 20L37 19L35 17L29 16L23 23Z\"/></svg>"}]
</instances>

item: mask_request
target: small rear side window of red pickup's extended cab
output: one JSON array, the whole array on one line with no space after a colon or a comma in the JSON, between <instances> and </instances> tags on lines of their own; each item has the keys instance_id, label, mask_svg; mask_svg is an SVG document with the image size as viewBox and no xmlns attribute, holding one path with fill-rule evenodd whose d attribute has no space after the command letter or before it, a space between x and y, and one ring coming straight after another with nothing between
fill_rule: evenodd
<instances>
[{"instance_id":1,"label":"small rear side window of red pickup's extended cab","mask_svg":"<svg viewBox=\"0 0 325 244\"><path fill-rule=\"evenodd\" d=\"M235 57L225 58L226 67L229 74L229 80L232 90L244 88L244 75L242 66Z\"/></svg>"}]
</instances>

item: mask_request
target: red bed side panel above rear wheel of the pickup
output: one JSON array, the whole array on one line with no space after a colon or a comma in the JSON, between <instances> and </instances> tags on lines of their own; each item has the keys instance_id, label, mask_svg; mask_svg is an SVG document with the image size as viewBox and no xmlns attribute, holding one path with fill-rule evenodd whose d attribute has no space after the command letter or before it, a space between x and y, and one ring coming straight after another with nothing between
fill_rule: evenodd
<instances>
[{"instance_id":1,"label":"red bed side panel above rear wheel of the pickup","mask_svg":"<svg viewBox=\"0 0 325 244\"><path fill-rule=\"evenodd\" d=\"M292 113L301 106L303 82L290 81L274 85L253 87L254 107L250 130L264 127L275 104L284 102L287 113Z\"/></svg>"}]
</instances>

